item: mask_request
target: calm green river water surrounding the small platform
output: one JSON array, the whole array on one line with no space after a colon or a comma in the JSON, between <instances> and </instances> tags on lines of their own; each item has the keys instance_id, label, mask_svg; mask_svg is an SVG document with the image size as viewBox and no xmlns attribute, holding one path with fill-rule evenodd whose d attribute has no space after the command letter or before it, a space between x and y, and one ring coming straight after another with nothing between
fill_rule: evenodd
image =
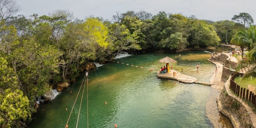
<instances>
[{"instance_id":1,"label":"calm green river water surrounding the small platform","mask_svg":"<svg viewBox=\"0 0 256 128\"><path fill-rule=\"evenodd\" d=\"M89 127L114 128L114 124L118 128L213 127L205 110L211 87L156 77L156 72L164 66L157 61L175 55L177 63L173 64L173 69L183 69L184 74L198 81L210 82L216 66L207 61L210 57L207 52L145 53L116 59L89 71ZM40 104L29 127L65 128L83 77L84 73L76 79L72 93L69 92L73 83L52 101ZM85 86L78 128L87 127L86 92ZM82 90L69 119L69 128L76 127L81 95Z\"/></svg>"}]
</instances>

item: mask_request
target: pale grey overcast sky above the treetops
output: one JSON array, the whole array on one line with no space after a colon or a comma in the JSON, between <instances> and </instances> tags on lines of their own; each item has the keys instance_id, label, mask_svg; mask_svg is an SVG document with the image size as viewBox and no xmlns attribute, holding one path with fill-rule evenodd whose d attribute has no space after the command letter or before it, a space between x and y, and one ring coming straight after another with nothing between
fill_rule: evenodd
<instances>
[{"instance_id":1,"label":"pale grey overcast sky above the treetops","mask_svg":"<svg viewBox=\"0 0 256 128\"><path fill-rule=\"evenodd\" d=\"M116 11L144 10L153 15L164 11L218 21L231 20L235 14L247 12L256 22L256 0L17 0L17 4L22 8L18 14L25 16L33 13L47 15L57 9L68 9L78 19L92 15L112 20Z\"/></svg>"}]
</instances>

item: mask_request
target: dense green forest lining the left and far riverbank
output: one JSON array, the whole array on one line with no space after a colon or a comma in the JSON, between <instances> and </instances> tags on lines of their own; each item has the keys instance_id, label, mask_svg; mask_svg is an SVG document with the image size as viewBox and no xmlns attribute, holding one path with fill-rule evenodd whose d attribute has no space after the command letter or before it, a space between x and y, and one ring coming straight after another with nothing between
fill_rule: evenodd
<instances>
[{"instance_id":1,"label":"dense green forest lining the left and far riverbank","mask_svg":"<svg viewBox=\"0 0 256 128\"><path fill-rule=\"evenodd\" d=\"M246 27L234 22L241 17L213 22L145 11L116 12L113 21L75 19L67 10L26 17L15 15L20 8L13 0L0 0L0 5L3 128L26 127L36 112L36 97L50 91L54 84L73 81L88 62L104 63L120 52L175 52L216 46L230 42L239 28Z\"/></svg>"}]
</instances>

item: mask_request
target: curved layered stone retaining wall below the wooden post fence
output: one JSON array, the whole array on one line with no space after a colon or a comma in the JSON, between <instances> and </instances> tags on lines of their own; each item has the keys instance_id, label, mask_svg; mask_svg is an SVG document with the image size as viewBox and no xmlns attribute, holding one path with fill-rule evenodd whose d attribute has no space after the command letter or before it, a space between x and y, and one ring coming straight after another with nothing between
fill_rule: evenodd
<instances>
[{"instance_id":1,"label":"curved layered stone retaining wall below the wooden post fence","mask_svg":"<svg viewBox=\"0 0 256 128\"><path fill-rule=\"evenodd\" d=\"M233 94L229 94L230 91L227 92L226 87L223 88L216 99L218 110L229 117L235 128L254 128L250 112L236 97L232 96Z\"/></svg>"}]
</instances>

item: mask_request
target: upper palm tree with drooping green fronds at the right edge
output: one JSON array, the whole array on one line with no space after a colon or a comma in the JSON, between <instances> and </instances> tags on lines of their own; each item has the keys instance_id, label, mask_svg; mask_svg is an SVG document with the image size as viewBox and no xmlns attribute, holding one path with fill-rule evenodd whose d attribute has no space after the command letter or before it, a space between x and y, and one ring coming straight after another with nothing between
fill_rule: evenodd
<instances>
[{"instance_id":1,"label":"upper palm tree with drooping green fronds at the right edge","mask_svg":"<svg viewBox=\"0 0 256 128\"><path fill-rule=\"evenodd\" d=\"M232 43L241 47L242 50L242 59L244 48L252 49L253 45L256 43L256 28L250 26L249 28L240 28L237 30L236 34L231 39Z\"/></svg>"}]
</instances>

